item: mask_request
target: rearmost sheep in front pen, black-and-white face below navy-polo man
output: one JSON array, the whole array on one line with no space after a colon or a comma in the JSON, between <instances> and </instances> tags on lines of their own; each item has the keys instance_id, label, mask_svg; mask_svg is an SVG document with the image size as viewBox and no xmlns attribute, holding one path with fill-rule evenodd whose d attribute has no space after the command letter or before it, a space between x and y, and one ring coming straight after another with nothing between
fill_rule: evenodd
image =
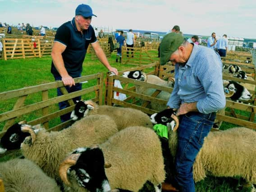
<instances>
[{"instance_id":1,"label":"rearmost sheep in front pen, black-and-white face below navy-polo man","mask_svg":"<svg viewBox=\"0 0 256 192\"><path fill-rule=\"evenodd\" d=\"M76 103L76 106L71 113L71 119L76 121L81 117L93 114L110 116L119 130L129 126L145 126L152 128L149 116L142 111L128 107L97 105L91 100L79 101Z\"/></svg>"}]
</instances>

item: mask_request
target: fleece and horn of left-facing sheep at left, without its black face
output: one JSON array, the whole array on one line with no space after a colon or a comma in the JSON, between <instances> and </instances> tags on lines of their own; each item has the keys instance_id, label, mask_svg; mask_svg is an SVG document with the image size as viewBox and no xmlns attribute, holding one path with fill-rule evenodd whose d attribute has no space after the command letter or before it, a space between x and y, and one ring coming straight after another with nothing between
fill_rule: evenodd
<instances>
[{"instance_id":1,"label":"fleece and horn of left-facing sheep at left, without its black face","mask_svg":"<svg viewBox=\"0 0 256 192\"><path fill-rule=\"evenodd\" d=\"M29 126L22 126L21 129L31 134L21 143L23 156L39 165L56 181L59 181L59 164L70 151L105 142L118 131L115 122L105 115L88 116L61 131L46 132L41 129L36 135Z\"/></svg>"}]
</instances>

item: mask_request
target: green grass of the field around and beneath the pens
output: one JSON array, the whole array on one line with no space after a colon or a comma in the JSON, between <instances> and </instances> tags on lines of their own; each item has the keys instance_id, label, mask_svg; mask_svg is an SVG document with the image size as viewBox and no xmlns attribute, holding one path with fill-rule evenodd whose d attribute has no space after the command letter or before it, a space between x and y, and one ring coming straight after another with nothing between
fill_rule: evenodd
<instances>
[{"instance_id":1,"label":"green grass of the field around and beneath the pens","mask_svg":"<svg viewBox=\"0 0 256 192\"><path fill-rule=\"evenodd\" d=\"M115 63L114 54L109 61L110 64L113 67L116 67L119 71L125 68L134 67L131 65L121 65L120 63ZM50 66L50 57L14 59L8 61L0 60L0 92L53 82L54 78L50 73ZM82 76L95 74L100 71L107 72L107 69L98 60L91 61L90 54L88 54L83 64ZM53 91L50 94L56 94L56 92ZM35 96L33 99L39 100L41 99L41 96ZM8 111L11 108L12 102L0 102L0 113ZM222 126L233 127L235 125L224 123ZM21 153L19 151L8 153L5 156L0 155L0 161L7 161L14 156L20 155ZM234 192L237 191L236 188L237 179L231 178L215 178L209 176L205 180L196 183L197 192ZM142 192L146 191L151 191L151 189L147 187L143 188ZM250 188L243 188L239 191L249 192Z\"/></svg>"}]
</instances>

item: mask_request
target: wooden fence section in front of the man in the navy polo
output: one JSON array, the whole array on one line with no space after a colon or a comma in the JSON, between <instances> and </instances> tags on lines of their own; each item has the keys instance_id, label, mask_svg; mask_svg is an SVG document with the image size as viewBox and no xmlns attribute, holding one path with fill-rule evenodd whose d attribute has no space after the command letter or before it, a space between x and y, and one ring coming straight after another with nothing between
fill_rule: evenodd
<instances>
[{"instance_id":1,"label":"wooden fence section in front of the man in the navy polo","mask_svg":"<svg viewBox=\"0 0 256 192\"><path fill-rule=\"evenodd\" d=\"M0 93L0 103L5 103L6 105L8 103L8 105L12 106L0 114L0 126L3 128L0 136L5 134L5 131L17 120L28 120L28 124L30 125L40 123L49 130L59 130L68 126L71 121L53 125L52 127L49 125L49 122L56 121L56 118L59 116L73 111L74 102L72 98L78 96L86 96L87 99L92 99L102 104L103 73L82 76L74 80L76 83L82 83L84 81L90 81L91 83L90 85L83 85L82 90L73 93L67 92L62 81ZM56 96L56 88L61 89L62 96ZM37 94L41 95L41 100L34 101L35 95ZM34 101L33 103L31 103L32 100ZM66 100L68 100L70 107L59 110L58 103Z\"/></svg>"}]
</instances>

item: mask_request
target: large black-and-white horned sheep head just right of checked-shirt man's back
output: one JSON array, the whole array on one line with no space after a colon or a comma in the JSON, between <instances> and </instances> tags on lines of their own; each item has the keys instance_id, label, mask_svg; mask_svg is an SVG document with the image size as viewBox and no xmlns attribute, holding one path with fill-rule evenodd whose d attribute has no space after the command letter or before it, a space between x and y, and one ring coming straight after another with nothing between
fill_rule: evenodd
<instances>
[{"instance_id":1,"label":"large black-and-white horned sheep head just right of checked-shirt man's back","mask_svg":"<svg viewBox=\"0 0 256 192\"><path fill-rule=\"evenodd\" d=\"M250 92L242 85L233 80L223 80L224 89L228 89L229 92L233 92L230 97L233 101L248 101L251 99Z\"/></svg>"}]
</instances>

